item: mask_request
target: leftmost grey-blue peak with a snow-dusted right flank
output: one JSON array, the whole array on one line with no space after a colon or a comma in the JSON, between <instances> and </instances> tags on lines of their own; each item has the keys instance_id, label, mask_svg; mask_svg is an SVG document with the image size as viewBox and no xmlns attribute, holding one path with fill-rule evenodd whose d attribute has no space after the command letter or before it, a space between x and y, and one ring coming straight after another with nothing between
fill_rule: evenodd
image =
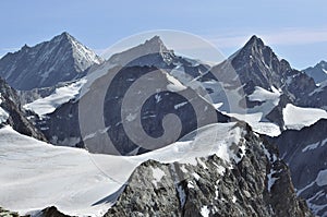
<instances>
[{"instance_id":1,"label":"leftmost grey-blue peak with a snow-dusted right flank","mask_svg":"<svg viewBox=\"0 0 327 217\"><path fill-rule=\"evenodd\" d=\"M0 76L12 87L28 91L72 81L101 59L68 33L34 47L24 46L0 60Z\"/></svg>"}]
</instances>

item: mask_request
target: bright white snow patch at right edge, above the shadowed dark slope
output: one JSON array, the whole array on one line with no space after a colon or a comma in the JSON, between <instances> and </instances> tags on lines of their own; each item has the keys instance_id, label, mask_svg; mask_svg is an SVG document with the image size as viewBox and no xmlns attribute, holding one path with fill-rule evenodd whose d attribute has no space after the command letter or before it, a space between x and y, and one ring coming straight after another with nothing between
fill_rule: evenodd
<instances>
[{"instance_id":1,"label":"bright white snow patch at right edge, above the shadowed dark slope","mask_svg":"<svg viewBox=\"0 0 327 217\"><path fill-rule=\"evenodd\" d=\"M317 122L319 119L327 119L327 112L317 108L301 108L288 104L282 110L284 126L287 129L301 130Z\"/></svg>"}]
</instances>

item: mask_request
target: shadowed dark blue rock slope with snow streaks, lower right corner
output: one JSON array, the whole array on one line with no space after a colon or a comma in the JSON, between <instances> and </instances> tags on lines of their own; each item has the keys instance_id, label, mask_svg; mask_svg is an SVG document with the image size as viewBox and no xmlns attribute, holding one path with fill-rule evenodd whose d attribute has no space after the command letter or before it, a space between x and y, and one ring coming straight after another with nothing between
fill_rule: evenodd
<instances>
[{"instance_id":1,"label":"shadowed dark blue rock slope with snow streaks, lower right corner","mask_svg":"<svg viewBox=\"0 0 327 217\"><path fill-rule=\"evenodd\" d=\"M271 138L289 165L298 195L318 216L327 215L327 120ZM324 176L325 174L325 176Z\"/></svg>"}]
</instances>

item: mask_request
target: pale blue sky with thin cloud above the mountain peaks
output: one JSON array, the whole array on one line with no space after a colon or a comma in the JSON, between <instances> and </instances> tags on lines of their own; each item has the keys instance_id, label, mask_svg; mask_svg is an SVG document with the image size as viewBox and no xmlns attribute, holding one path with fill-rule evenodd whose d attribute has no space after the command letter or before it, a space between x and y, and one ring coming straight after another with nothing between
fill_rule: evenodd
<instances>
[{"instance_id":1,"label":"pale blue sky with thin cloud above the mountain peaks","mask_svg":"<svg viewBox=\"0 0 327 217\"><path fill-rule=\"evenodd\" d=\"M327 60L326 0L230 1L1 1L0 56L69 32L100 52L153 29L196 34L226 56L252 35L298 69Z\"/></svg>"}]
</instances>

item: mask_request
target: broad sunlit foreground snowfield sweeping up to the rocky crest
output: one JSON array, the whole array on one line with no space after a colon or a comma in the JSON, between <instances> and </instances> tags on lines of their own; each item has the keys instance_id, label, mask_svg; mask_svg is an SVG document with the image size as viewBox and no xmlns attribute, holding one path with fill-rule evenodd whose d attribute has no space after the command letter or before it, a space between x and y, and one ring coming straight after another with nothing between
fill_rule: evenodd
<instances>
[{"instance_id":1,"label":"broad sunlit foreground snowfield sweeping up to the rocky crest","mask_svg":"<svg viewBox=\"0 0 327 217\"><path fill-rule=\"evenodd\" d=\"M0 130L0 204L21 214L55 205L69 215L101 216L116 200L108 196L143 161L197 165L197 157L217 154L227 162L238 162L244 154L237 156L234 145L245 153L240 142L244 133L235 123L217 123L161 149L122 157L52 146L5 126ZM158 182L161 176L149 179Z\"/></svg>"}]
</instances>

